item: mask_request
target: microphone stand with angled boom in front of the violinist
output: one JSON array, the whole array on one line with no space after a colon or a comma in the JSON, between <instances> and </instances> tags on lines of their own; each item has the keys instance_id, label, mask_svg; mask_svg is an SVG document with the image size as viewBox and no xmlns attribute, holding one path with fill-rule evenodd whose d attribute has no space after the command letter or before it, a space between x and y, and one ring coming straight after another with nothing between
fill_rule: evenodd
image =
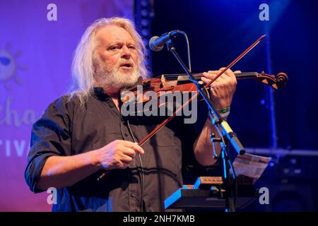
<instances>
[{"instance_id":1,"label":"microphone stand with angled boom in front of the violinist","mask_svg":"<svg viewBox=\"0 0 318 226\"><path fill-rule=\"evenodd\" d=\"M189 79L196 85L196 88L200 95L204 98L206 104L208 105L208 109L211 112L211 117L213 119L211 120L211 123L216 126L216 129L218 131L222 131L220 133L221 139L218 140L217 138L211 138L212 146L214 145L213 142L221 142L222 147L222 158L223 158L223 179L225 182L225 211L226 212L235 212L235 200L236 200L236 180L235 180L235 171L232 167L232 162L230 161L230 157L228 154L228 143L232 144L232 147L235 148L237 153L240 155L243 155L245 153L245 148L243 147L242 143L240 143L239 139L235 135L235 133L232 131L230 126L228 125L228 122L223 119L223 117L220 116L218 111L216 110L216 107L214 107L213 102L208 97L206 93L206 88L204 87L204 83L199 83L196 81L192 73L189 71L187 66L182 61L181 57L179 57L179 54L177 53L177 50L175 49L175 46L172 44L172 41L169 40L167 42L167 49L169 52L171 52L179 64L182 66L184 71L189 76ZM232 173L230 173L232 172ZM233 188L234 187L234 188Z\"/></svg>"}]
</instances>

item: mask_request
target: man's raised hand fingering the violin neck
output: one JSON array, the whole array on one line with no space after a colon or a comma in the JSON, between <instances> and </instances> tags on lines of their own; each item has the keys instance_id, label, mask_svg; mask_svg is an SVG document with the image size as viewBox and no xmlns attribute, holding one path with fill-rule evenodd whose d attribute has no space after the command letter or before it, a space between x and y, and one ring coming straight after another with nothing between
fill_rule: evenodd
<instances>
[{"instance_id":1,"label":"man's raised hand fingering the violin neck","mask_svg":"<svg viewBox=\"0 0 318 226\"><path fill-rule=\"evenodd\" d=\"M204 77L202 77L201 80L207 84L223 69L224 68L221 68L218 71L204 72ZM235 71L234 73L240 73L240 71ZM226 107L230 107L231 105L232 96L237 85L237 80L234 73L228 69L222 74L222 76L217 78L216 81L211 84L211 98L217 109L224 109Z\"/></svg>"}]
</instances>

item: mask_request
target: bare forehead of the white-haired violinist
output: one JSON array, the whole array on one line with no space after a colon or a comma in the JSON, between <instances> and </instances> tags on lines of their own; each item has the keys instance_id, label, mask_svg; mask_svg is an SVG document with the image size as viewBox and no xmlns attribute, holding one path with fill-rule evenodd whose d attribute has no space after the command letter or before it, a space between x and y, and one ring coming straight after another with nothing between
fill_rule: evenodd
<instances>
[{"instance_id":1,"label":"bare forehead of the white-haired violinist","mask_svg":"<svg viewBox=\"0 0 318 226\"><path fill-rule=\"evenodd\" d=\"M98 30L96 33L96 37L98 41L102 43L118 41L135 43L128 31L116 25L108 25L106 27L100 28L100 30Z\"/></svg>"}]
</instances>

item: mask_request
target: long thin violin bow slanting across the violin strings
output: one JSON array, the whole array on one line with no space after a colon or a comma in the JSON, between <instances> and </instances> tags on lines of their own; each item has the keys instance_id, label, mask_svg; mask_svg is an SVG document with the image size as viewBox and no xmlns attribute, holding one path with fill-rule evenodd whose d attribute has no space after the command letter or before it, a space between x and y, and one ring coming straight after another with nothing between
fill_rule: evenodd
<instances>
[{"instance_id":1,"label":"long thin violin bow slanting across the violin strings","mask_svg":"<svg viewBox=\"0 0 318 226\"><path fill-rule=\"evenodd\" d=\"M225 71L227 71L228 69L230 69L234 64L236 64L238 61L240 61L240 59L242 59L242 57L244 57L249 51L251 51L254 47L257 46L257 44L259 44L259 42L261 42L261 40L264 40L264 38L266 37L266 35L261 35L261 37L259 37L258 40L256 40L253 44L251 44L247 49L245 49L244 52L242 52L237 58L235 58L230 64L228 64L228 66L226 66L222 71L220 71L220 73L218 73L218 75L211 79L211 81L209 83L207 83L205 85L206 88L208 88L214 81L216 81L216 79L218 79L220 76L223 75L223 73L225 73ZM165 126L169 121L171 121L178 112L180 112L184 106L188 105L190 102L192 102L192 100L194 100L194 98L196 98L199 95L199 92L196 93L195 95L193 95L187 102L185 102L181 107L179 107L177 110L175 110L175 112L173 112L170 117L167 117L167 119L165 119L163 122L161 122L158 126L155 127L155 129L153 129L153 131L151 131L151 133L149 133L145 138L143 138L143 140L141 140L138 145L141 146L143 145L143 143L146 143L146 141L148 141L151 137L153 137L153 135L155 135L155 133L157 133L160 129L163 128L163 126ZM98 177L98 181L100 181L100 179L102 179L103 177L105 177L107 175L107 172L104 172L100 175L100 177Z\"/></svg>"}]
</instances>

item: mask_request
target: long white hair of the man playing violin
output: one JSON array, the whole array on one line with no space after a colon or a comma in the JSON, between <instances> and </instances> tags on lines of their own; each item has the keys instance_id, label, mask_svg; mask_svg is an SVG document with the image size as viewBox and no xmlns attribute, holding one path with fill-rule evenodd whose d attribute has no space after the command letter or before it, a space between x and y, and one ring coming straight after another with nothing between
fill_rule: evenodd
<instances>
[{"instance_id":1,"label":"long white hair of the man playing violin","mask_svg":"<svg viewBox=\"0 0 318 226\"><path fill-rule=\"evenodd\" d=\"M71 74L73 83L70 88L70 98L77 95L81 101L81 105L86 102L87 97L91 95L93 87L95 85L95 72L94 72L94 59L95 48L97 47L97 41L95 40L95 34L99 28L106 27L107 25L117 25L119 28L124 28L133 40L136 42L136 50L139 57L137 62L137 69L143 78L147 76L146 68L146 47L141 39L141 36L136 32L134 23L126 18L100 18L90 25L83 36L81 41L76 47L76 51L73 58L73 64Z\"/></svg>"}]
</instances>

